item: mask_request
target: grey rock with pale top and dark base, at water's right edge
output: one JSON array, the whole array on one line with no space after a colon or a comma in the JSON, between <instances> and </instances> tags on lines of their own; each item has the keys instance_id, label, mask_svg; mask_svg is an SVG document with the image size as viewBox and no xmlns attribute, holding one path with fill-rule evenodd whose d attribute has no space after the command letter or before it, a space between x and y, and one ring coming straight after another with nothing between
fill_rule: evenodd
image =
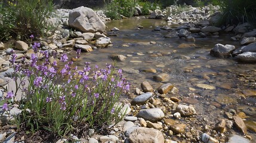
<instances>
[{"instance_id":1,"label":"grey rock with pale top and dark base, at water's right edge","mask_svg":"<svg viewBox=\"0 0 256 143\"><path fill-rule=\"evenodd\" d=\"M210 54L214 57L226 58L235 50L234 45L222 45L217 43L214 48L211 49Z\"/></svg>"}]
</instances>

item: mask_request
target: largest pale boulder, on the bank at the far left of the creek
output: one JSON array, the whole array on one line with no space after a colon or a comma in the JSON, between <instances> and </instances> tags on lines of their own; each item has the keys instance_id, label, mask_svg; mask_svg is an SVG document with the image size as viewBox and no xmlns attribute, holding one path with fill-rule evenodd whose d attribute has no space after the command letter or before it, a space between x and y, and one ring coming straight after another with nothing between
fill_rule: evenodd
<instances>
[{"instance_id":1,"label":"largest pale boulder, on the bank at the far left of the creek","mask_svg":"<svg viewBox=\"0 0 256 143\"><path fill-rule=\"evenodd\" d=\"M87 7L78 7L70 11L69 26L81 32L104 32L106 29L98 15Z\"/></svg>"}]
</instances>

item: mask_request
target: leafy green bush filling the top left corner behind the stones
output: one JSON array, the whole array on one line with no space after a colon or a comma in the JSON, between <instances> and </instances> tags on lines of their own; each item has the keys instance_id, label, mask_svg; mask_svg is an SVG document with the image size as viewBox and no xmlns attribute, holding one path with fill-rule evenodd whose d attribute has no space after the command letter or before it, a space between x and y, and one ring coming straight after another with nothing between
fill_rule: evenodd
<instances>
[{"instance_id":1,"label":"leafy green bush filling the top left corner behind the stones","mask_svg":"<svg viewBox=\"0 0 256 143\"><path fill-rule=\"evenodd\" d=\"M53 13L52 0L10 0L0 3L0 40L10 36L27 39L29 35L43 36L47 18Z\"/></svg>"}]
</instances>

